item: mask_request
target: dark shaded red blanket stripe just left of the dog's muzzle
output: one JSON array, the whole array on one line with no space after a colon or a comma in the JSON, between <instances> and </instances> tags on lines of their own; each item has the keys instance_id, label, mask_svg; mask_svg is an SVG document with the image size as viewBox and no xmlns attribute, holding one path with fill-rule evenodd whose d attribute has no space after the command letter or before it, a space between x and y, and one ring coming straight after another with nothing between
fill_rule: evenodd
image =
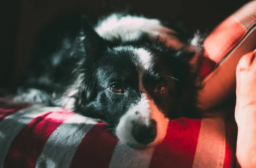
<instances>
[{"instance_id":1,"label":"dark shaded red blanket stripe just left of the dog's muzzle","mask_svg":"<svg viewBox=\"0 0 256 168\"><path fill-rule=\"evenodd\" d=\"M118 142L111 137L107 126L98 123L84 136L70 168L108 168L113 150Z\"/></svg>"}]
</instances>

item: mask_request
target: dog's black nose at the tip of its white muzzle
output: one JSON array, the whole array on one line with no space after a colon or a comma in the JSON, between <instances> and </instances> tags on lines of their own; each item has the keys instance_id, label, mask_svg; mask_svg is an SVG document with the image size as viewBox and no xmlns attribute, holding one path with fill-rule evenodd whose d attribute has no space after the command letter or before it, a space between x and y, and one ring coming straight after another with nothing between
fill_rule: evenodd
<instances>
[{"instance_id":1,"label":"dog's black nose at the tip of its white muzzle","mask_svg":"<svg viewBox=\"0 0 256 168\"><path fill-rule=\"evenodd\" d=\"M151 143L157 136L157 123L155 120L150 120L148 126L135 123L132 129L132 134L138 143Z\"/></svg>"}]
</instances>

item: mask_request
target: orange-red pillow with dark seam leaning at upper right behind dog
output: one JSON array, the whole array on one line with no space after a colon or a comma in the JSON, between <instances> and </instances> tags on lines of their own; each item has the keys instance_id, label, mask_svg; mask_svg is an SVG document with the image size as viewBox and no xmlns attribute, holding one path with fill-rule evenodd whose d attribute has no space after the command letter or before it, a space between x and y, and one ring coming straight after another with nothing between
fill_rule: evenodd
<instances>
[{"instance_id":1,"label":"orange-red pillow with dark seam leaning at upper right behind dog","mask_svg":"<svg viewBox=\"0 0 256 168\"><path fill-rule=\"evenodd\" d=\"M223 104L236 91L236 65L241 56L256 48L256 0L253 0L218 25L204 42L204 67L209 74L204 78L204 89L199 92L202 110Z\"/></svg>"}]
</instances>

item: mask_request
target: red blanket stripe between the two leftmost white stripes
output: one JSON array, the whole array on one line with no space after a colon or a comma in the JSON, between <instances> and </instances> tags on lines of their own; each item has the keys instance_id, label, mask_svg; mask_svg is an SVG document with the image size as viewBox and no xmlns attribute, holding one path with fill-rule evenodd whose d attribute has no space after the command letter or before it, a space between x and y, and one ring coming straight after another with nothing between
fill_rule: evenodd
<instances>
[{"instance_id":1,"label":"red blanket stripe between the two leftmost white stripes","mask_svg":"<svg viewBox=\"0 0 256 168\"><path fill-rule=\"evenodd\" d=\"M34 118L13 140L4 168L33 168L52 132L73 113L48 112Z\"/></svg>"}]
</instances>

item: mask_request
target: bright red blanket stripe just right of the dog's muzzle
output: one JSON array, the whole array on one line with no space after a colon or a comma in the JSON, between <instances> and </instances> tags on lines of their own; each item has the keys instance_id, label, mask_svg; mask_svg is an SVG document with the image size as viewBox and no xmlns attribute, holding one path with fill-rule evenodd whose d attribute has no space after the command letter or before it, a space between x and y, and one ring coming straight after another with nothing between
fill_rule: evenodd
<instances>
[{"instance_id":1,"label":"bright red blanket stripe just right of the dog's muzzle","mask_svg":"<svg viewBox=\"0 0 256 168\"><path fill-rule=\"evenodd\" d=\"M200 127L200 119L170 121L165 139L155 147L149 168L191 168Z\"/></svg>"}]
</instances>

